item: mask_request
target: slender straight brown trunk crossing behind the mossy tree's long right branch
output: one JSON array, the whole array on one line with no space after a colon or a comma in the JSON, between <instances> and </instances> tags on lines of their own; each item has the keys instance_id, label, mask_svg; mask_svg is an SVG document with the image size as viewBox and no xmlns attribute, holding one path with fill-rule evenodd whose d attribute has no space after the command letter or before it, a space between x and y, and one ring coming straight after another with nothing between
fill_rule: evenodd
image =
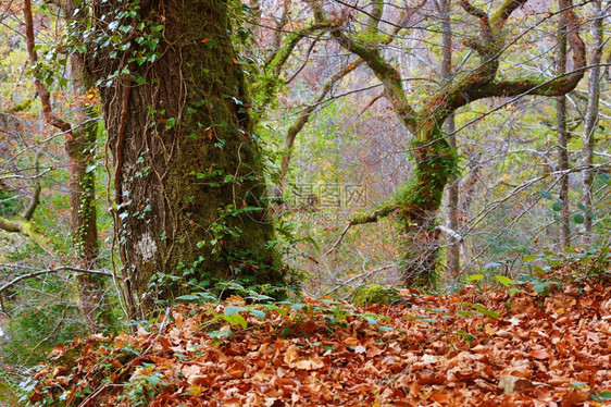
<instances>
[{"instance_id":1,"label":"slender straight brown trunk crossing behind the mossy tree's long right branch","mask_svg":"<svg viewBox=\"0 0 611 407\"><path fill-rule=\"evenodd\" d=\"M558 57L557 74L566 72L566 20L561 18L558 29ZM566 130L566 96L556 98L556 126L558 137L558 170L569 170L569 131ZM560 244L568 248L571 246L571 226L569 219L569 174L560 176L560 190L558 198L561 205L560 211Z\"/></svg>"}]
</instances>

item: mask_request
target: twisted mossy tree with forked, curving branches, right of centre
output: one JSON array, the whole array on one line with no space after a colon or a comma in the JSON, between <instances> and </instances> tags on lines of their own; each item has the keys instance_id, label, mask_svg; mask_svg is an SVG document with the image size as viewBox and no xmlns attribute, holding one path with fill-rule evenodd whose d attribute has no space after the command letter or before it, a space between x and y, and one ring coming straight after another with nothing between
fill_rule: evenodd
<instances>
[{"instance_id":1,"label":"twisted mossy tree with forked, curving branches, right of centre","mask_svg":"<svg viewBox=\"0 0 611 407\"><path fill-rule=\"evenodd\" d=\"M515 97L521 95L560 96L571 91L584 76L585 49L578 35L577 21L571 0L559 0L559 8L566 20L566 39L572 48L573 71L552 81L497 79L500 58L507 46L506 22L527 0L506 0L492 14L460 0L467 14L479 21L477 38L467 41L479 57L479 65L458 83L447 83L421 110L415 110L409 100L399 70L382 54L379 44L363 40L366 36L352 38L341 29L332 29L331 35L348 51L359 55L384 86L384 96L392 104L404 127L414 135L412 157L414 180L407 183L398 194L396 212L402 224L404 238L403 278L408 284L431 285L435 281L437 239L439 232L436 218L444 189L458 174L454 146L444 133L444 122L458 109L489 97ZM322 0L313 1L314 16L319 23L332 20ZM384 14L384 3L374 2L369 10L370 38L379 38L377 24ZM388 213L385 210L384 213ZM371 222L371 217L366 218ZM352 222L359 223L359 222Z\"/></svg>"}]
</instances>

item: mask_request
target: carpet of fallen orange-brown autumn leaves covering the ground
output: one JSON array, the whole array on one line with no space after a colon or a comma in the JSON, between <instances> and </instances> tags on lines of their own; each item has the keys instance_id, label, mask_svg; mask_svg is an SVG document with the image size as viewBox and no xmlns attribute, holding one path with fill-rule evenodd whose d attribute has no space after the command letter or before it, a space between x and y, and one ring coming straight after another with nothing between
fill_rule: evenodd
<instances>
[{"instance_id":1,"label":"carpet of fallen orange-brown autumn leaves covering the ground","mask_svg":"<svg viewBox=\"0 0 611 407\"><path fill-rule=\"evenodd\" d=\"M134 335L58 346L36 374L30 403L609 405L611 287L566 283L545 294L532 286L401 291L391 306L309 299L248 308L255 312L237 296L177 306ZM214 319L227 307L242 310L233 325ZM229 329L233 336L220 335Z\"/></svg>"}]
</instances>

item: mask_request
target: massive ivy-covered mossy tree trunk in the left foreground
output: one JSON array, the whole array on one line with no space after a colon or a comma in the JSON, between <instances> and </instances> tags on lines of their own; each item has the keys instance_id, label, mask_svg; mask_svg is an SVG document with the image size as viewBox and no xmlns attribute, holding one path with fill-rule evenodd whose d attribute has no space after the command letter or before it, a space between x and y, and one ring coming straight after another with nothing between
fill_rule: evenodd
<instances>
[{"instance_id":1,"label":"massive ivy-covered mossy tree trunk in the left foreground","mask_svg":"<svg viewBox=\"0 0 611 407\"><path fill-rule=\"evenodd\" d=\"M127 34L113 49L97 47L90 64L104 82L121 73L100 91L137 317L219 280L282 284L261 150L229 35L228 15L238 9L221 0L140 7L115 25L126 5L95 1L98 35Z\"/></svg>"}]
</instances>

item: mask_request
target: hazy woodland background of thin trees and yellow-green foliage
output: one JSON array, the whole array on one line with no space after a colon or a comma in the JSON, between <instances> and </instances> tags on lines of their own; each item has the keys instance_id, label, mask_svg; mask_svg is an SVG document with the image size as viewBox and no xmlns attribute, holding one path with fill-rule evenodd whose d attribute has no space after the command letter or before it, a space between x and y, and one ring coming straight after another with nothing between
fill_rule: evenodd
<instances>
[{"instance_id":1,"label":"hazy woodland background of thin trees and yellow-green foliage","mask_svg":"<svg viewBox=\"0 0 611 407\"><path fill-rule=\"evenodd\" d=\"M477 42L486 33L481 14L492 15L503 2L230 3L238 10L232 12L236 63L246 73L265 156L266 219L275 223L284 261L312 297L346 299L362 285L400 285L406 229L398 226L401 214L386 209L406 180L419 176L414 133L385 92L388 77L376 75L375 61L354 52L354 44L375 49L400 74L406 100L426 108L444 86L486 64L489 51ZM575 28L558 4L523 3L501 25L504 46L488 55L498 57L498 77L545 86L575 72L584 76L565 96L492 96L445 119L460 171L449 175L429 230L435 248L412 240L416 251L434 252L428 289L436 293L473 282L543 286L545 272L573 260L589 264L581 269L585 274L610 272L611 4L560 2L574 13L584 41L578 66L578 50L566 41ZM87 49L71 35L78 29L66 20L64 2L30 7L36 46L28 53L24 4L0 5L0 356L9 383L27 377L57 343L96 331L99 316L97 322L84 318L79 304L92 279L103 281L107 328L129 322L113 222L116 157L93 86L100 83L74 86L73 55ZM52 116L79 123L92 136L79 150L83 180L96 193L92 257L78 247L71 224L79 209L71 202L70 132L50 125Z\"/></svg>"}]
</instances>

